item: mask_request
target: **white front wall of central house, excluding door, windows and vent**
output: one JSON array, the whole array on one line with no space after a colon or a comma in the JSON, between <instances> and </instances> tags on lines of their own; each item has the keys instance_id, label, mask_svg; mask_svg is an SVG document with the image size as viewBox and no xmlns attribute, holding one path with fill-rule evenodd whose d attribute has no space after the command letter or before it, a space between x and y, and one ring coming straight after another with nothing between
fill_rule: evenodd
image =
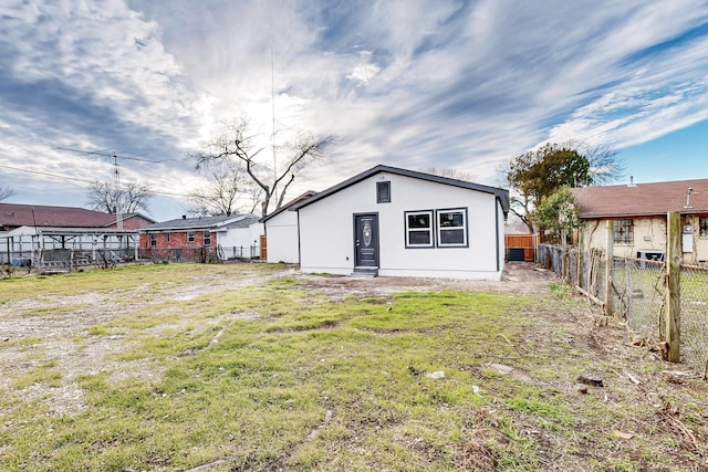
<instances>
[{"instance_id":1,"label":"white front wall of central house, excluding door, windows and vent","mask_svg":"<svg viewBox=\"0 0 708 472\"><path fill-rule=\"evenodd\" d=\"M392 202L376 202L377 181L391 181ZM467 208L468 248L406 248L405 211L454 208ZM299 210L301 270L351 274L354 214L377 213L379 275L499 280L503 213L497 209L490 193L378 174Z\"/></svg>"}]
</instances>

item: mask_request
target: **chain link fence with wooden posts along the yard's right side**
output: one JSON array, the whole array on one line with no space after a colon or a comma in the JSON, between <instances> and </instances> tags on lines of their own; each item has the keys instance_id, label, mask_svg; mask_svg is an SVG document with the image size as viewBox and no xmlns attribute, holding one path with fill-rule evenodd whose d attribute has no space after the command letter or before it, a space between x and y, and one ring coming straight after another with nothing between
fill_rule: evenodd
<instances>
[{"instance_id":1,"label":"chain link fence with wooden posts along the yard's right side","mask_svg":"<svg viewBox=\"0 0 708 472\"><path fill-rule=\"evenodd\" d=\"M570 248L563 251L560 247L540 244L537 262L553 270L603 307L608 302L613 312L624 317L629 327L650 344L665 339L664 261L613 258L611 283L606 277L607 258L602 250L580 252ZM679 300L681 361L705 371L708 363L708 268L681 265Z\"/></svg>"}]
</instances>

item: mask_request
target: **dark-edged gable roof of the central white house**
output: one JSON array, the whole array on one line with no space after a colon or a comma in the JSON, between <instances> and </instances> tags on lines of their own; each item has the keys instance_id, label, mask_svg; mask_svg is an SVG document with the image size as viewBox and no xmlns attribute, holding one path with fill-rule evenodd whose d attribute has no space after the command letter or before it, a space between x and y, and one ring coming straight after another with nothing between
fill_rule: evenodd
<instances>
[{"instance_id":1,"label":"dark-edged gable roof of the central white house","mask_svg":"<svg viewBox=\"0 0 708 472\"><path fill-rule=\"evenodd\" d=\"M320 193L293 206L293 209L299 210L303 207L314 203L315 201L319 201L333 193L336 193L340 190L343 190L347 187L358 183L362 180L365 180L372 176L375 176L376 174L382 174L382 172L410 177L414 179L426 180L429 182L442 183L442 185L452 186L452 187L459 187L468 190L476 190L483 193L491 193L496 196L497 200L499 200L499 202L501 203L501 208L504 212L504 216L509 213L509 190L500 189L497 187L482 186L479 183L468 182L465 180L451 179L449 177L435 176L433 174L419 172L416 170L399 169L397 167L391 167L391 166L384 166L384 165L372 167L371 169L365 170L361 174L357 174L356 176L347 180L344 180L343 182L337 183L334 187L330 187L329 189L323 190Z\"/></svg>"}]
</instances>

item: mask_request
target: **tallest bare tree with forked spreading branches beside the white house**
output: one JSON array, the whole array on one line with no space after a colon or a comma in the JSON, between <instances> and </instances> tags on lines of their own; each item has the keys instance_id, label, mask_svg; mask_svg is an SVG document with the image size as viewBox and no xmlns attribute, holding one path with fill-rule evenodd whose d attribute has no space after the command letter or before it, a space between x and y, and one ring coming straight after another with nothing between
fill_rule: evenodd
<instances>
[{"instance_id":1,"label":"tallest bare tree with forked spreading branches beside the white house","mask_svg":"<svg viewBox=\"0 0 708 472\"><path fill-rule=\"evenodd\" d=\"M282 156L282 160L269 165L263 156L268 146L259 146L258 136L251 133L248 119L241 117L226 124L223 132L205 145L204 151L189 157L196 160L197 169L222 160L243 165L249 178L262 190L261 213L264 217L278 191L280 198L275 202L275 210L282 206L288 187L296 174L324 157L325 149L333 140L332 136L317 138L311 133L300 133L290 143L273 149L273 153Z\"/></svg>"}]
</instances>

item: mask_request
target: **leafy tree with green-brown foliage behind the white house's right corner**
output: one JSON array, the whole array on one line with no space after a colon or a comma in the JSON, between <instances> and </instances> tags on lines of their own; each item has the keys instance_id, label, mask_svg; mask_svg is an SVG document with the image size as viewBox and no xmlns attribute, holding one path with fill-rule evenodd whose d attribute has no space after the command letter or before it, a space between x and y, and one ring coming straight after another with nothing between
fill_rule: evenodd
<instances>
[{"instance_id":1,"label":"leafy tree with green-brown foliage behind the white house's right corner","mask_svg":"<svg viewBox=\"0 0 708 472\"><path fill-rule=\"evenodd\" d=\"M534 231L539 225L534 211L544 198L562 187L605 183L620 177L622 166L606 147L590 147L577 141L546 144L517 156L504 169L511 189L511 211Z\"/></svg>"}]
</instances>

